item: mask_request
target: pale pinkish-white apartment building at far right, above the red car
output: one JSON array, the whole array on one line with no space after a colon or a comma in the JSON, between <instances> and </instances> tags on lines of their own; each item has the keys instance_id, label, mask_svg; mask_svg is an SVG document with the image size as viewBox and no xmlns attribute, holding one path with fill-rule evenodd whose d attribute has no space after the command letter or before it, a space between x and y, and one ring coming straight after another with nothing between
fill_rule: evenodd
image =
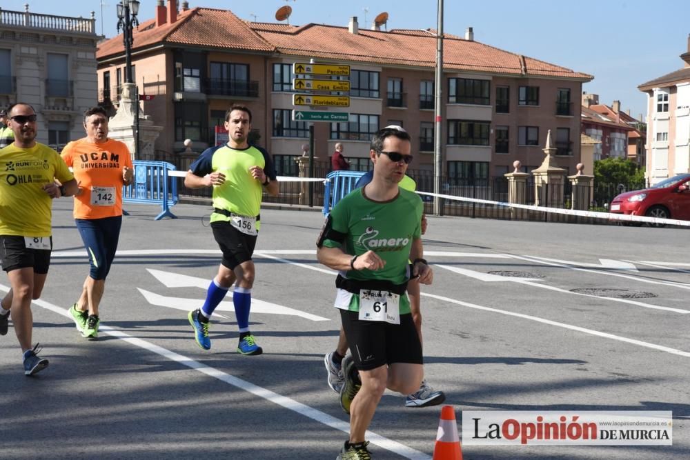
<instances>
[{"instance_id":1,"label":"pale pinkish-white apartment building at far right, above the red car","mask_svg":"<svg viewBox=\"0 0 690 460\"><path fill-rule=\"evenodd\" d=\"M651 183L690 172L690 35L684 67L638 89L647 93L647 172Z\"/></svg>"}]
</instances>

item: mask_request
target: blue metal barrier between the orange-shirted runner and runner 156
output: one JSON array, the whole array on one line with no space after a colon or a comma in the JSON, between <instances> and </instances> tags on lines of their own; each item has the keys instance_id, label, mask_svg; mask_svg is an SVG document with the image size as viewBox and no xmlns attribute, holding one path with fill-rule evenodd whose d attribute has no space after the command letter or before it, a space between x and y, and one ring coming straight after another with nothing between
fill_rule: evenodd
<instances>
[{"instance_id":1,"label":"blue metal barrier between the orange-shirted runner and runner 156","mask_svg":"<svg viewBox=\"0 0 690 460\"><path fill-rule=\"evenodd\" d=\"M163 211L155 220L164 217L177 219L170 212L170 206L175 206L177 196L177 181L168 176L168 171L174 171L175 166L165 161L132 161L134 164L134 181L122 187L122 201L124 203L159 204Z\"/></svg>"}]
</instances>

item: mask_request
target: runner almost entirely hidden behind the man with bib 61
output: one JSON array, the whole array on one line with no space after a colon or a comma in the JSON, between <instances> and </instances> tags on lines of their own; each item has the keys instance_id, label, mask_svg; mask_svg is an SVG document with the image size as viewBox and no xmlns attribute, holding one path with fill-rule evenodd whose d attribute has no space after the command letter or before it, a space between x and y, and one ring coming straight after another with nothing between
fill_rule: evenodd
<instances>
[{"instance_id":1,"label":"runner almost entirely hidden behind the man with bib 61","mask_svg":"<svg viewBox=\"0 0 690 460\"><path fill-rule=\"evenodd\" d=\"M391 125L386 126L387 128L404 131L402 126ZM373 170L367 172L355 183L355 189L362 188L366 184L370 183L374 177ZM414 192L417 189L417 183L407 174L398 184L400 188L405 190L410 190ZM426 215L422 214L422 234L426 233ZM407 284L407 294L410 298L410 310L412 313L412 319L415 322L415 328L417 328L417 334L420 336L420 341L422 341L422 310L420 308L422 303L422 296L420 293L420 283L417 279L411 279ZM345 375L342 369L342 360L347 353L348 343L345 337L345 332L343 328L340 328L340 333L338 336L337 347L334 351L326 354L324 357L324 365L326 366L326 371L328 372L328 386L331 390L339 393L340 388L342 388L345 382ZM434 390L434 388L426 383L426 380L422 381L420 388L408 394L405 398L405 407L408 408L425 408L428 406L437 406L446 400L446 395L440 390Z\"/></svg>"}]
</instances>

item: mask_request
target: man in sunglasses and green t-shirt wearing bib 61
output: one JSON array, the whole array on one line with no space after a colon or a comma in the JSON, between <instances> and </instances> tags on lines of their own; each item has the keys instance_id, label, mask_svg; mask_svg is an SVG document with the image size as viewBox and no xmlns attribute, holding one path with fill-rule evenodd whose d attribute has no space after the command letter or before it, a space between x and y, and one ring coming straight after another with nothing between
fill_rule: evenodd
<instances>
[{"instance_id":1,"label":"man in sunglasses and green t-shirt wearing bib 61","mask_svg":"<svg viewBox=\"0 0 690 460\"><path fill-rule=\"evenodd\" d=\"M319 262L339 270L335 307L351 350L340 390L350 439L338 459L371 458L364 434L384 391L411 394L424 378L406 289L414 277L431 284L433 272L422 259L422 199L399 186L410 151L404 130L377 131L369 151L372 181L335 205L317 241Z\"/></svg>"}]
</instances>

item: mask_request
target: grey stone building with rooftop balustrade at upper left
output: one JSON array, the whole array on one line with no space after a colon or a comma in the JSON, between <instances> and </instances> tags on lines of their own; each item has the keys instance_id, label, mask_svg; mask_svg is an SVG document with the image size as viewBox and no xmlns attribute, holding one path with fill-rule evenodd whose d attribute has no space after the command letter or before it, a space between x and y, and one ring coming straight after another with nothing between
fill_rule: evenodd
<instances>
[{"instance_id":1,"label":"grey stone building with rooftop balustrade at upper left","mask_svg":"<svg viewBox=\"0 0 690 460\"><path fill-rule=\"evenodd\" d=\"M94 14L90 19L0 10L0 107L30 103L37 141L57 149L83 137L81 114L97 103Z\"/></svg>"}]
</instances>

